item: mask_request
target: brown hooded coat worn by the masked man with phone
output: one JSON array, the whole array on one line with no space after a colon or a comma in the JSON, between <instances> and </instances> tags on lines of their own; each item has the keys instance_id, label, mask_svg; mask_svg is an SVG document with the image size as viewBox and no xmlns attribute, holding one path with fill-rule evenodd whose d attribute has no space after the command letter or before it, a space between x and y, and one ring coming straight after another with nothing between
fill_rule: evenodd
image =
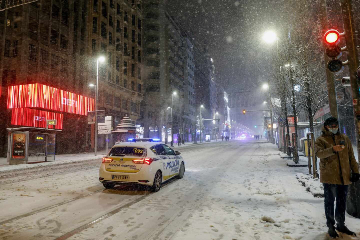
<instances>
[{"instance_id":1,"label":"brown hooded coat worn by the masked man with phone","mask_svg":"<svg viewBox=\"0 0 360 240\"><path fill-rule=\"evenodd\" d=\"M349 185L350 169L359 173L354 151L350 139L342 133L333 134L325 127L321 130L323 135L315 141L315 154L320 158L320 182L327 184ZM334 152L333 146L340 145L345 140L345 148Z\"/></svg>"}]
</instances>

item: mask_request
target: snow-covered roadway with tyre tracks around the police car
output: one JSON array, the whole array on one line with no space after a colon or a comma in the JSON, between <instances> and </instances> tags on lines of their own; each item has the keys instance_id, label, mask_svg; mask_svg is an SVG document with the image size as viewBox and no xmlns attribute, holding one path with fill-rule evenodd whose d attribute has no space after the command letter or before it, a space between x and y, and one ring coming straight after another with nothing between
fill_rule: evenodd
<instances>
[{"instance_id":1,"label":"snow-covered roadway with tyre tracks around the police car","mask_svg":"<svg viewBox=\"0 0 360 240\"><path fill-rule=\"evenodd\" d=\"M100 158L0 172L0 238L327 239L324 200L295 177L307 168L285 166L275 145L235 140L177 150L184 178L157 193L104 189ZM360 234L359 219L346 214L346 224Z\"/></svg>"}]
</instances>

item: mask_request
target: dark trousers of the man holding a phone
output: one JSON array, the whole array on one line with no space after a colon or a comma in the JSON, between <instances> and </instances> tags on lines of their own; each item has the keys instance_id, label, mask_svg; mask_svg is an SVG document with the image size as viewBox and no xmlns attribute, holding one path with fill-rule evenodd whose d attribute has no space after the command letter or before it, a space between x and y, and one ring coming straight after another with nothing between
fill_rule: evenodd
<instances>
[{"instance_id":1,"label":"dark trousers of the man holding a phone","mask_svg":"<svg viewBox=\"0 0 360 240\"><path fill-rule=\"evenodd\" d=\"M324 203L326 225L332 227L345 225L346 195L348 185L324 184ZM334 214L334 200L336 199L336 208Z\"/></svg>"}]
</instances>

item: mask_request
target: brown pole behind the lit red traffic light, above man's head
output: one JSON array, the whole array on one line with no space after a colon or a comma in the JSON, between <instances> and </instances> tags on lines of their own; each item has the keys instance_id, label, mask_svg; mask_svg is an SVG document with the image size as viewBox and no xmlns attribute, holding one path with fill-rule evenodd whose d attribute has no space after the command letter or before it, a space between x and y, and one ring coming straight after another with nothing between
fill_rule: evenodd
<instances>
[{"instance_id":1,"label":"brown pole behind the lit red traffic light, above man's head","mask_svg":"<svg viewBox=\"0 0 360 240\"><path fill-rule=\"evenodd\" d=\"M321 35L324 36L325 32L329 27L328 13L326 7L326 0L320 1L320 24L321 24ZM344 24L345 25L345 24ZM324 59L325 59L325 72L326 72L326 85L328 87L328 99L329 99L329 107L330 114L332 117L339 119L338 109L337 109L337 100L336 100L336 90L335 90L335 82L334 82L334 74L332 74L327 68L327 55L325 53L325 49L327 45L323 42L324 47Z\"/></svg>"}]
</instances>

